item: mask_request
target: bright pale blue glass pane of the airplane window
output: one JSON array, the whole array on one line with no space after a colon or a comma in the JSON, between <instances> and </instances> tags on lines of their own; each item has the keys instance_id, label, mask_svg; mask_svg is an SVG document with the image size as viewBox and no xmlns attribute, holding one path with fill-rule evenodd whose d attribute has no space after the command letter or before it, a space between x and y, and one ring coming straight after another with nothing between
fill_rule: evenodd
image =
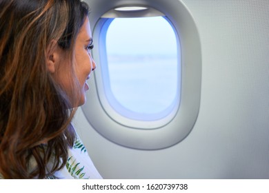
<instances>
[{"instance_id":1,"label":"bright pale blue glass pane of the airplane window","mask_svg":"<svg viewBox=\"0 0 269 193\"><path fill-rule=\"evenodd\" d=\"M116 18L106 30L109 98L131 119L169 112L179 96L177 38L164 17ZM167 113L166 113L167 114ZM161 114L165 116L166 114Z\"/></svg>"}]
</instances>

